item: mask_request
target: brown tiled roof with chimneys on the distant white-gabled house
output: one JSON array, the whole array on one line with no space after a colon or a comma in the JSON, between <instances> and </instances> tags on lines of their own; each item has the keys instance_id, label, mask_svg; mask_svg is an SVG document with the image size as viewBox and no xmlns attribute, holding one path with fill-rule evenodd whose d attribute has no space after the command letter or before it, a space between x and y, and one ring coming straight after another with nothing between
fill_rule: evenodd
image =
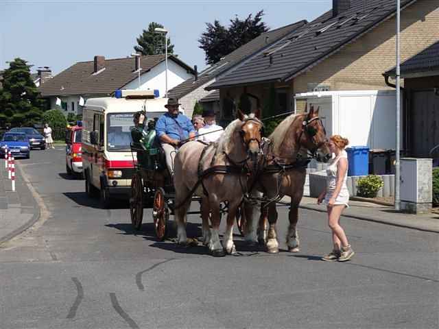
<instances>
[{"instance_id":1,"label":"brown tiled roof with chimneys on the distant white-gabled house","mask_svg":"<svg viewBox=\"0 0 439 329\"><path fill-rule=\"evenodd\" d=\"M180 66L185 67L191 73L193 69L174 56L169 56ZM163 62L165 55L142 56L141 74L147 73L154 66ZM134 72L134 58L116 58L105 60L105 69L93 74L93 60L90 62L78 62L54 76L38 90L43 97L62 95L110 95L117 88L121 88L128 82L136 79L138 73Z\"/></svg>"}]
</instances>

